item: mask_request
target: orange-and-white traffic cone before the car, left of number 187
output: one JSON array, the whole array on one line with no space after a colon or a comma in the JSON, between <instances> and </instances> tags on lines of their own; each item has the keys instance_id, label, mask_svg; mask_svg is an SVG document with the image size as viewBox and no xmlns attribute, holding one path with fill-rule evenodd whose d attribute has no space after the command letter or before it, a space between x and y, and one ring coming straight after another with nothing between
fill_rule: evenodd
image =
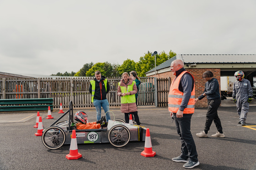
<instances>
[{"instance_id":1,"label":"orange-and-white traffic cone before the car, left of number 187","mask_svg":"<svg viewBox=\"0 0 256 170\"><path fill-rule=\"evenodd\" d=\"M66 158L68 160L77 160L80 157L82 157L82 155L78 153L75 130L72 130L72 138L71 138L71 143L69 148L69 154L66 155Z\"/></svg>"}]
</instances>

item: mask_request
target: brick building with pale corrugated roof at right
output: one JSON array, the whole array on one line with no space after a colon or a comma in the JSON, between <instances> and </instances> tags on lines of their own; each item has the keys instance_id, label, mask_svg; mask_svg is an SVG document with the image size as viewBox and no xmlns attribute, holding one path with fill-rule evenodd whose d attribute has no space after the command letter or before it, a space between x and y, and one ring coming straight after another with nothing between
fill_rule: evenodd
<instances>
[{"instance_id":1,"label":"brick building with pale corrugated roof at right","mask_svg":"<svg viewBox=\"0 0 256 170\"><path fill-rule=\"evenodd\" d=\"M221 76L234 76L237 70L242 70L245 73L245 79L250 80L252 87L253 79L256 79L256 55L176 55L156 66L156 68L149 70L146 76L170 77L172 81L175 76L170 70L170 65L176 59L182 60L184 68L194 76L196 98L203 93L205 80L202 75L207 70L213 72L214 78L219 81L219 84ZM207 107L206 97L198 101L195 107Z\"/></svg>"}]
</instances>

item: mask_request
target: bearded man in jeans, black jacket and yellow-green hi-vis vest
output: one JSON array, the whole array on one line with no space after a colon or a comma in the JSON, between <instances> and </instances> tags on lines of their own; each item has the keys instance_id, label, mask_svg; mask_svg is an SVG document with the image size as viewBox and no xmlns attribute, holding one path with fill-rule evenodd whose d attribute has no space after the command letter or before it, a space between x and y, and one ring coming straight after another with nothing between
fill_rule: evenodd
<instances>
[{"instance_id":1,"label":"bearded man in jeans, black jacket and yellow-green hi-vis vest","mask_svg":"<svg viewBox=\"0 0 256 170\"><path fill-rule=\"evenodd\" d=\"M101 75L100 71L96 71L95 79L91 80L90 83L91 102L96 108L97 121L101 120L101 107L105 111L107 121L110 120L109 103L107 101L109 84L106 77Z\"/></svg>"}]
</instances>

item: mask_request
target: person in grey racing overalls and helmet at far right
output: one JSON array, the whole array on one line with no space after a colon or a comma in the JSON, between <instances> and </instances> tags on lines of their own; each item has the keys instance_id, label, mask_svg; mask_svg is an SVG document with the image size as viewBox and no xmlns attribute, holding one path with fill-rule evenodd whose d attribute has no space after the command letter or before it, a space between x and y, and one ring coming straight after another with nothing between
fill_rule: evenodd
<instances>
[{"instance_id":1,"label":"person in grey racing overalls and helmet at far right","mask_svg":"<svg viewBox=\"0 0 256 170\"><path fill-rule=\"evenodd\" d=\"M239 115L239 124L245 125L247 113L249 111L249 103L252 98L251 82L244 79L243 71L236 71L235 78L237 81L233 87L233 101L236 103L237 113Z\"/></svg>"}]
</instances>

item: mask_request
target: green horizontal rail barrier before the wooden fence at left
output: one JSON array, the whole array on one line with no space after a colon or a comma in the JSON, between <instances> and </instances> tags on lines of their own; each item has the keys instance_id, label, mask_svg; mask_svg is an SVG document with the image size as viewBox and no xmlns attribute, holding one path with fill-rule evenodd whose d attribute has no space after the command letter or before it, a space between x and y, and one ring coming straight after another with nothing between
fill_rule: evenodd
<instances>
[{"instance_id":1,"label":"green horizontal rail barrier before the wooden fence at left","mask_svg":"<svg viewBox=\"0 0 256 170\"><path fill-rule=\"evenodd\" d=\"M53 98L0 99L0 111L48 110L48 106L53 111Z\"/></svg>"}]
</instances>

